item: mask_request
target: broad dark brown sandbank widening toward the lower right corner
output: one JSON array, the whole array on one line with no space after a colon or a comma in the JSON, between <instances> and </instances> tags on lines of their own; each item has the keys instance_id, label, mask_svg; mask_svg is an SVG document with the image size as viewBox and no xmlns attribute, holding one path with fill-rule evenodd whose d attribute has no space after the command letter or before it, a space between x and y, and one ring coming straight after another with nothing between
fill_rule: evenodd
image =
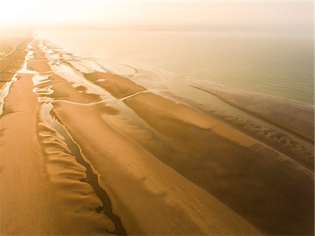
<instances>
[{"instance_id":1,"label":"broad dark brown sandbank widening toward the lower right corner","mask_svg":"<svg viewBox=\"0 0 315 236\"><path fill-rule=\"evenodd\" d=\"M108 72L85 77L94 82L109 75ZM111 84L97 84L109 92L112 91ZM116 84L115 88L119 90L119 86L120 84ZM117 98L123 97L113 92L111 94ZM293 230L300 232L302 228L306 230L308 227L310 228L305 232L311 230L310 222L313 216L310 209L313 208L311 206L314 188L313 174L308 169L220 120L147 90L135 92L134 95L120 100L145 120L153 130L166 137L165 142L169 144L161 145L158 141L147 139L142 146L150 149L160 160L190 181L223 200L232 209L237 209L237 212L248 221L261 228L267 228L270 234L280 231L289 234ZM125 129L126 126L121 130ZM137 139L135 135L137 134L131 132L128 136ZM148 140L153 143L151 147ZM160 145L159 148L155 148L155 144ZM169 146L172 146L172 149ZM168 148L171 150L165 154L165 149ZM172 155L169 156L169 153ZM232 170L231 179L233 165L237 168ZM251 169L251 172L244 174L244 167ZM283 173L281 180L274 181L269 178L279 172ZM288 179L297 181L296 185L300 187L292 191L292 187L286 185ZM301 185L305 179L308 179L307 184ZM278 194L279 189L286 197ZM302 192L303 197L300 195ZM292 195L297 197L294 200L290 199ZM259 207L257 202L260 202ZM300 206L300 202L304 202L304 206ZM288 214L287 209L295 211L295 214ZM301 214L305 214L304 218L309 218L309 221L297 219ZM294 222L295 225L290 228L288 222ZM296 224L300 226L296 227Z\"/></svg>"}]
</instances>

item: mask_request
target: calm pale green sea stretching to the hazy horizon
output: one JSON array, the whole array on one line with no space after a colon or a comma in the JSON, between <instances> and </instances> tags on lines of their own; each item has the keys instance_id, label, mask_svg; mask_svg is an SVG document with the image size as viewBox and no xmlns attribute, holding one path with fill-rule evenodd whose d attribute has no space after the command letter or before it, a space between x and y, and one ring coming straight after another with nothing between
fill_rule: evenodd
<instances>
[{"instance_id":1,"label":"calm pale green sea stretching to the hazy horizon","mask_svg":"<svg viewBox=\"0 0 315 236\"><path fill-rule=\"evenodd\" d=\"M38 31L121 74L154 71L162 83L223 85L314 106L311 34ZM146 74L139 74L145 79ZM152 74L151 74L152 77Z\"/></svg>"}]
</instances>

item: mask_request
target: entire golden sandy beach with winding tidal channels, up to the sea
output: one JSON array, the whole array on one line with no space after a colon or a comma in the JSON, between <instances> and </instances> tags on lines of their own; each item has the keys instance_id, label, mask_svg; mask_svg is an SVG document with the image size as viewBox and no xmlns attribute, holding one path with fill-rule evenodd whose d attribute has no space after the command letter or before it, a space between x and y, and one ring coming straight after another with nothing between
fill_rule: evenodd
<instances>
[{"instance_id":1,"label":"entire golden sandy beach with winding tidal channels, up to the sea","mask_svg":"<svg viewBox=\"0 0 315 236\"><path fill-rule=\"evenodd\" d=\"M95 63L34 38L0 58L2 235L314 232L311 111L262 104L279 141Z\"/></svg>"}]
</instances>

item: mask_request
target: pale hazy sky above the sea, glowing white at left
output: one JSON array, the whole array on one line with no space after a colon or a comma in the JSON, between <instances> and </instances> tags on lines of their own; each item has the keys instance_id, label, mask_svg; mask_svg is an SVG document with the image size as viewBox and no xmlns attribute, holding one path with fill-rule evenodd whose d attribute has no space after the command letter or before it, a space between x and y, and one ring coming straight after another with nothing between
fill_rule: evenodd
<instances>
[{"instance_id":1,"label":"pale hazy sky above the sea, glowing white at left","mask_svg":"<svg viewBox=\"0 0 315 236\"><path fill-rule=\"evenodd\" d=\"M312 29L312 1L5 0L0 27ZM308 27L308 28L307 28Z\"/></svg>"}]
</instances>

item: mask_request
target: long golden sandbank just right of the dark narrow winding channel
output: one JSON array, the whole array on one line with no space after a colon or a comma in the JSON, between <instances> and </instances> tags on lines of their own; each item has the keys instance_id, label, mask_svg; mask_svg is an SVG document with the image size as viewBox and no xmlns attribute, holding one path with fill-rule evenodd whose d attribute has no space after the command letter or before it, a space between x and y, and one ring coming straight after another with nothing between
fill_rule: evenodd
<instances>
[{"instance_id":1,"label":"long golden sandbank just right of the dark narrow winding channel","mask_svg":"<svg viewBox=\"0 0 315 236\"><path fill-rule=\"evenodd\" d=\"M83 153L99 172L128 234L260 234L207 192L95 118L88 107L57 104L55 112L79 145L90 140ZM78 119L82 114L91 125L85 126ZM84 137L80 135L83 133Z\"/></svg>"}]
</instances>

